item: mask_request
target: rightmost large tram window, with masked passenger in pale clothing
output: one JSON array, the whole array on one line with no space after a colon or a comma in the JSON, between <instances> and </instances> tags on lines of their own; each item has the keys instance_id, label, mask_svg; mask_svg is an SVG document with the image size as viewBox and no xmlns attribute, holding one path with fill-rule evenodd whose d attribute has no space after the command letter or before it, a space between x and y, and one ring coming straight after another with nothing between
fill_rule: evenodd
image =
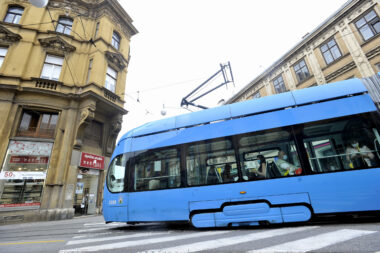
<instances>
[{"instance_id":1,"label":"rightmost large tram window, with masked passenger in pale clothing","mask_svg":"<svg viewBox=\"0 0 380 253\"><path fill-rule=\"evenodd\" d=\"M304 127L304 145L316 173L377 166L379 139L368 115Z\"/></svg>"}]
</instances>

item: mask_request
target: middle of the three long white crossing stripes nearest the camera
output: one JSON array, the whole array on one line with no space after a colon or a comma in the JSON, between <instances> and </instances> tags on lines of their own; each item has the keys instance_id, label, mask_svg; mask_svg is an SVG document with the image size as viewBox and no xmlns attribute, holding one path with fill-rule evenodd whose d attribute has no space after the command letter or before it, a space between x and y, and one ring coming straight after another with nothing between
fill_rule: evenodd
<instances>
[{"instance_id":1,"label":"middle of the three long white crossing stripes nearest the camera","mask_svg":"<svg viewBox=\"0 0 380 253\"><path fill-rule=\"evenodd\" d=\"M179 246L166 248L166 249L157 249L157 250L152 250L152 251L166 253L166 252L196 252L196 251L212 250L212 249L216 249L220 247L226 247L226 246L262 240L262 239L280 236L280 235L297 233L297 232L301 232L301 231L305 231L309 229L314 229L317 227L318 226L271 229L271 230L266 230L266 231L234 236L234 237L213 239L209 241L190 243L190 244L179 245Z\"/></svg>"}]
</instances>

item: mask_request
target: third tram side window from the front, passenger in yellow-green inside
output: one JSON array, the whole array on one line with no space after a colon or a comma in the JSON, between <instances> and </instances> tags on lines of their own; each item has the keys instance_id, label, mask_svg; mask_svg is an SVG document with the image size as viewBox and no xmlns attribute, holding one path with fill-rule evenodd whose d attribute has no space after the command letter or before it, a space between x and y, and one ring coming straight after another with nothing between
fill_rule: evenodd
<instances>
[{"instance_id":1,"label":"third tram side window from the front, passenger in yellow-green inside","mask_svg":"<svg viewBox=\"0 0 380 253\"><path fill-rule=\"evenodd\" d=\"M287 131L245 135L239 145L243 178L258 180L302 174L293 137Z\"/></svg>"}]
</instances>

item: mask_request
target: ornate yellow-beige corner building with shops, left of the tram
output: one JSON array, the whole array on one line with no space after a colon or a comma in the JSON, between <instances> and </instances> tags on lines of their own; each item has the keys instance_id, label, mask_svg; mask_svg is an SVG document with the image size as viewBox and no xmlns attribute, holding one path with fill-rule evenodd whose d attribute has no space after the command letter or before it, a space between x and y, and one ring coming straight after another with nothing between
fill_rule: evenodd
<instances>
[{"instance_id":1,"label":"ornate yellow-beige corner building with shops, left of the tram","mask_svg":"<svg viewBox=\"0 0 380 253\"><path fill-rule=\"evenodd\" d=\"M117 0L1 0L0 20L0 223L101 212L132 19Z\"/></svg>"}]
</instances>

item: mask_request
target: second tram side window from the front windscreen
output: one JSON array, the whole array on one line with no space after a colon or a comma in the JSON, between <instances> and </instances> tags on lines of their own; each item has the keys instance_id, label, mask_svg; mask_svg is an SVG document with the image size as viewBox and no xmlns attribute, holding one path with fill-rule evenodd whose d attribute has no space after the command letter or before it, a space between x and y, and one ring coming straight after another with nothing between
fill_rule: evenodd
<instances>
[{"instance_id":1,"label":"second tram side window from the front windscreen","mask_svg":"<svg viewBox=\"0 0 380 253\"><path fill-rule=\"evenodd\" d=\"M235 152L229 139L190 145L186 155L190 186L238 181Z\"/></svg>"}]
</instances>

